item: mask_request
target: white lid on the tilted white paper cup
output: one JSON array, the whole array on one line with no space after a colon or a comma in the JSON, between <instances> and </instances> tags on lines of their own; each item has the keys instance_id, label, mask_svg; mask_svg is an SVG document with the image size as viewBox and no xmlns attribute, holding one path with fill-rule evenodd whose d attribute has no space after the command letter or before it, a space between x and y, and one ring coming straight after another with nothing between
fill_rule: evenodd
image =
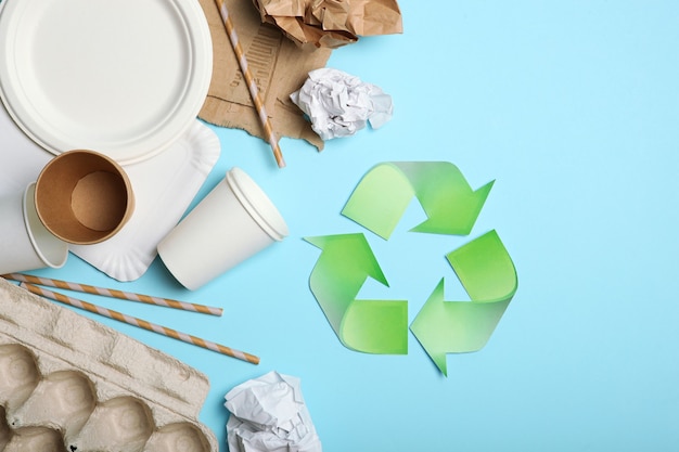
<instances>
[{"instance_id":1,"label":"white lid on the tilted white paper cup","mask_svg":"<svg viewBox=\"0 0 679 452\"><path fill-rule=\"evenodd\" d=\"M245 171L233 167L227 172L225 181L245 210L271 238L281 242L289 235L287 224L281 212Z\"/></svg>"}]
</instances>

